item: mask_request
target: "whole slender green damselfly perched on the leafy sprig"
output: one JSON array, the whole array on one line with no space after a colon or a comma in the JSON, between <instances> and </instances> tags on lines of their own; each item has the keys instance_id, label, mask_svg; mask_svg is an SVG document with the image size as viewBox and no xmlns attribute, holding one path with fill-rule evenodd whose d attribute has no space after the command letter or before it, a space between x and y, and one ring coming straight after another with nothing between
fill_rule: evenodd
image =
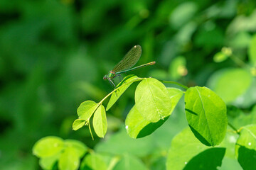
<instances>
[{"instance_id":1,"label":"whole slender green damselfly perched on the leafy sprig","mask_svg":"<svg viewBox=\"0 0 256 170\"><path fill-rule=\"evenodd\" d=\"M129 50L126 55L124 55L124 58L116 66L114 66L114 68L108 74L106 74L103 79L110 81L110 84L112 84L115 88L114 82L112 81L114 77L120 77L122 73L156 64L156 62L149 62L132 68L139 61L141 55L142 47L140 45L134 45L134 47L132 47L132 49Z\"/></svg>"}]
</instances>

